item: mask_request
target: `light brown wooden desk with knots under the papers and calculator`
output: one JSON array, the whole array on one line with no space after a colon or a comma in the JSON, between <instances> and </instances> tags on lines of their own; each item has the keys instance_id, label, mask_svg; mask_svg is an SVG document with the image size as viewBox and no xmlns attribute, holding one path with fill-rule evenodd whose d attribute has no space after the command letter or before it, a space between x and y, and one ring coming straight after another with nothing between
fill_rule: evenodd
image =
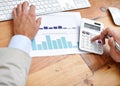
<instances>
[{"instance_id":1,"label":"light brown wooden desk with knots under the papers and calculator","mask_svg":"<svg viewBox=\"0 0 120 86\"><path fill-rule=\"evenodd\" d=\"M82 17L96 19L105 27L118 29L107 10L120 8L120 0L90 0L92 7L74 10ZM0 22L0 47L12 37L12 21ZM33 58L26 86L120 86L119 64L112 61L108 46L102 56L94 54ZM89 67L89 68L88 68Z\"/></svg>"}]
</instances>

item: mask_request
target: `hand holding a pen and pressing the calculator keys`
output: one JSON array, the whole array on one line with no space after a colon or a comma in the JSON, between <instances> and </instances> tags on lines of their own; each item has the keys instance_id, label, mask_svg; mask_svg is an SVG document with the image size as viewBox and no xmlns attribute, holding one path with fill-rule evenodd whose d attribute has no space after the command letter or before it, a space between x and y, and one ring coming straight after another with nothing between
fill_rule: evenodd
<instances>
[{"instance_id":1,"label":"hand holding a pen and pressing the calculator keys","mask_svg":"<svg viewBox=\"0 0 120 86\"><path fill-rule=\"evenodd\" d=\"M110 55L114 61L120 62L120 51L115 48L115 43L114 43L114 41L116 40L120 44L120 36L119 36L120 29L106 28L101 32L100 35L93 37L91 40L95 41L95 40L101 39L103 44L105 44L105 39L107 35L111 36L111 38L108 39L108 44L110 46Z\"/></svg>"}]
</instances>

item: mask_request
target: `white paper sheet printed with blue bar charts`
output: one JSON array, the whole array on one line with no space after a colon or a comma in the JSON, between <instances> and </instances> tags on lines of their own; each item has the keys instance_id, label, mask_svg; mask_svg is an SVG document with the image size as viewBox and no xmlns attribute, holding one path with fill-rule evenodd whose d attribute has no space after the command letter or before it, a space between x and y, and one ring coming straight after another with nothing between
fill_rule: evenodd
<instances>
[{"instance_id":1,"label":"white paper sheet printed with blue bar charts","mask_svg":"<svg viewBox=\"0 0 120 86\"><path fill-rule=\"evenodd\" d=\"M84 53L78 48L80 13L61 12L41 17L42 22L39 31L32 40L30 56Z\"/></svg>"}]
</instances>

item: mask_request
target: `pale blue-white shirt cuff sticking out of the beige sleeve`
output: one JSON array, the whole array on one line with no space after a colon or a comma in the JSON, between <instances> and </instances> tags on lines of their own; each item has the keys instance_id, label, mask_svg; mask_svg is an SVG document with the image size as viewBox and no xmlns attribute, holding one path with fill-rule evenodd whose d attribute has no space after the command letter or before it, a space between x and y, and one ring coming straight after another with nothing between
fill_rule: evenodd
<instances>
[{"instance_id":1,"label":"pale blue-white shirt cuff sticking out of the beige sleeve","mask_svg":"<svg viewBox=\"0 0 120 86\"><path fill-rule=\"evenodd\" d=\"M32 50L31 40L24 35L15 35L12 37L9 48L17 48L29 53Z\"/></svg>"}]
</instances>

